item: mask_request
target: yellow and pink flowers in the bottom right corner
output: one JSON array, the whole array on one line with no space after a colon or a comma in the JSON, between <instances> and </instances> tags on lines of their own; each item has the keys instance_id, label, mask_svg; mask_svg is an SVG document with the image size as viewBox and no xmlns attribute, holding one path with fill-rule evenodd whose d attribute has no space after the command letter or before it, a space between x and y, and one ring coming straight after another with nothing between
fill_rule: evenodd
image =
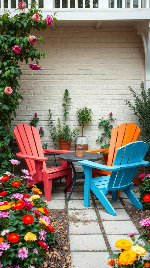
<instances>
[{"instance_id":1,"label":"yellow and pink flowers in the bottom right corner","mask_svg":"<svg viewBox=\"0 0 150 268\"><path fill-rule=\"evenodd\" d=\"M149 252L150 250L150 219L143 219L139 222L139 224L146 231L146 233L141 235L137 241L135 241L136 233L131 233L128 235L131 237L133 244L127 239L117 240L115 246L122 252L119 254L110 255L108 265L114 268L127 267L126 265L130 265L129 267L131 268L150 267L150 254L148 254L148 257L145 256L146 252ZM139 240L144 238L148 241L148 244L145 246L143 246L141 242L139 243Z\"/></svg>"}]
</instances>

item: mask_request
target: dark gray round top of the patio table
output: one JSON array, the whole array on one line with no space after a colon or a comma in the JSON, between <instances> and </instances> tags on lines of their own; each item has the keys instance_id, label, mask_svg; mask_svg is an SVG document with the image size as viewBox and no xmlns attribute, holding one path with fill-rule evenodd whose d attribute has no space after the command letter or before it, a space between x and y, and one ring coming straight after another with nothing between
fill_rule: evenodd
<instances>
[{"instance_id":1,"label":"dark gray round top of the patio table","mask_svg":"<svg viewBox=\"0 0 150 268\"><path fill-rule=\"evenodd\" d=\"M60 160L65 160L65 161L68 161L68 162L78 162L78 161L81 161L81 160L97 161L97 160L103 159L103 155L93 153L93 152L84 152L83 157L77 157L76 153L73 152L73 153L60 154L58 156L58 158Z\"/></svg>"}]
</instances>

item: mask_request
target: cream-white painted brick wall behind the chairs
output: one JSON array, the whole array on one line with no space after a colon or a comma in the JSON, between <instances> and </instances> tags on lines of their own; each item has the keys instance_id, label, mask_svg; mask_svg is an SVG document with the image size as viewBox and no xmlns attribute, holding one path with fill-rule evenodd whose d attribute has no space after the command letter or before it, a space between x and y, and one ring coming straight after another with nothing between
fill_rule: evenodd
<instances>
[{"instance_id":1,"label":"cream-white painted brick wall behind the chairs","mask_svg":"<svg viewBox=\"0 0 150 268\"><path fill-rule=\"evenodd\" d=\"M45 32L32 34L45 35L44 45L35 44L35 48L50 52L40 60L41 70L29 69L30 61L21 63L19 84L20 92L25 91L24 100L20 101L13 126L29 123L37 112L38 127L43 126L45 133L42 142L53 148L48 138L48 109L52 110L54 123L58 117L63 119L65 89L72 98L67 117L69 126L78 125L77 108L85 105L93 111L93 125L87 124L84 130L84 135L89 136L90 149L99 147L96 143L102 133L102 129L98 129L99 119L108 118L110 111L116 118L113 126L124 122L138 124L124 101L132 98L128 86L139 94L144 80L143 43L134 27L56 27L56 30L48 27Z\"/></svg>"}]
</instances>

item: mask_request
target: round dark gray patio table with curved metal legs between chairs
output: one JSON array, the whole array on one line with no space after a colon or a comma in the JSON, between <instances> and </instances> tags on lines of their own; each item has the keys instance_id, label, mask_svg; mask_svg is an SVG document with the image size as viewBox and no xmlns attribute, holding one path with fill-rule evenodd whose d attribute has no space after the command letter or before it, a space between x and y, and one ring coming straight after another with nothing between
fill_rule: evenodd
<instances>
[{"instance_id":1,"label":"round dark gray patio table with curved metal legs between chairs","mask_svg":"<svg viewBox=\"0 0 150 268\"><path fill-rule=\"evenodd\" d=\"M70 197L72 195L73 189L74 189L74 185L76 183L76 178L77 178L77 172L76 172L76 169L75 169L72 162L78 162L78 161L82 161L82 160L89 160L89 161L94 162L94 161L103 159L103 155L99 154L99 153L93 153L93 152L84 152L83 157L77 157L76 152L73 152L73 153L60 154L58 156L58 158L60 160L64 160L64 161L69 162L72 169L73 169L73 178L72 178L71 182L69 183L68 187L65 188L65 192L66 192L68 190L68 188L70 187L70 185L72 185L71 191L70 191L69 196L67 198L67 201L69 201Z\"/></svg>"}]
</instances>

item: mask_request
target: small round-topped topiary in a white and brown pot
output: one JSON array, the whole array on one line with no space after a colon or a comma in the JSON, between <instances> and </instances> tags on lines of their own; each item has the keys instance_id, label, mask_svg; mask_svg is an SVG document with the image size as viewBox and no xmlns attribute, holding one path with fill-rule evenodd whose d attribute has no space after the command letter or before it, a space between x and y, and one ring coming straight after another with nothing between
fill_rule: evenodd
<instances>
[{"instance_id":1,"label":"small round-topped topiary in a white and brown pot","mask_svg":"<svg viewBox=\"0 0 150 268\"><path fill-rule=\"evenodd\" d=\"M88 109L86 106L84 106L83 108L79 108L76 112L77 116L78 116L78 122L79 125L82 126L82 135L77 136L76 140L75 140L75 150L77 147L77 144L81 143L82 140L82 145L84 147L84 150L88 150L88 136L83 136L83 131L84 131L84 125L88 122L93 124L92 121L92 111L90 109Z\"/></svg>"}]
</instances>

